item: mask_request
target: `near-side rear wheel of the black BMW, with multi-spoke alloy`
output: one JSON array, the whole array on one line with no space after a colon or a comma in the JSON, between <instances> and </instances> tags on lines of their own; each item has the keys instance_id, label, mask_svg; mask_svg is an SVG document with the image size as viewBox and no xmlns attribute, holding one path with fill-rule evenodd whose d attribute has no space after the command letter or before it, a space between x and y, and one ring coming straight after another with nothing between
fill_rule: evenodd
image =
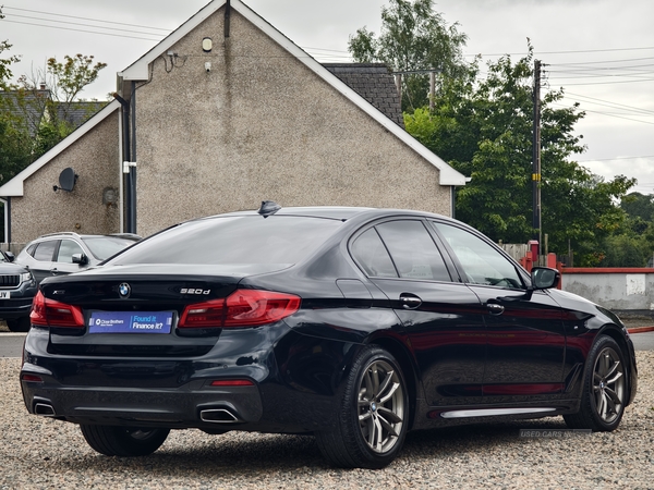
<instances>
[{"instance_id":1,"label":"near-side rear wheel of the black BMW, with multi-spoke alloy","mask_svg":"<svg viewBox=\"0 0 654 490\"><path fill-rule=\"evenodd\" d=\"M354 359L332 429L317 432L316 440L336 466L383 468L404 443L409 414L400 365L386 350L371 345Z\"/></svg>"}]
</instances>

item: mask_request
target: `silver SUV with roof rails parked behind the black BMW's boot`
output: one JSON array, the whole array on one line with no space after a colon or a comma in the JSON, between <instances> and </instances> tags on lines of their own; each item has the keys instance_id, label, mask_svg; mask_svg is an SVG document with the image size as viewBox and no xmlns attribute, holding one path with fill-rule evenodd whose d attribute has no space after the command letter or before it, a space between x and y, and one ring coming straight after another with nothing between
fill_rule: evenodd
<instances>
[{"instance_id":1,"label":"silver SUV with roof rails parked behind the black BMW's boot","mask_svg":"<svg viewBox=\"0 0 654 490\"><path fill-rule=\"evenodd\" d=\"M50 275L70 274L97 266L140 240L141 236L131 233L50 233L28 243L16 257L16 264L27 267L40 283Z\"/></svg>"}]
</instances>

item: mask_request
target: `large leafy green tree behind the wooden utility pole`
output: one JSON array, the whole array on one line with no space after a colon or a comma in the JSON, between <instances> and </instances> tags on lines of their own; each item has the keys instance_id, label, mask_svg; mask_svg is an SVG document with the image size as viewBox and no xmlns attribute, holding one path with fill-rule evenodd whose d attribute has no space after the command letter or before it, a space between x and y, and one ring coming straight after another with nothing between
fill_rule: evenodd
<instances>
[{"instance_id":1,"label":"large leafy green tree behind the wooden utility pole","mask_svg":"<svg viewBox=\"0 0 654 490\"><path fill-rule=\"evenodd\" d=\"M480 78L479 61L465 76L445 81L435 110L404 114L407 131L472 181L457 193L457 218L495 241L524 243L532 228L532 48L513 63L488 63ZM562 90L542 100L542 225L549 248L570 244L579 265L596 265L603 240L626 223L616 205L634 180L610 182L572 161L584 147L574 135L583 118L578 106L555 108Z\"/></svg>"}]
</instances>

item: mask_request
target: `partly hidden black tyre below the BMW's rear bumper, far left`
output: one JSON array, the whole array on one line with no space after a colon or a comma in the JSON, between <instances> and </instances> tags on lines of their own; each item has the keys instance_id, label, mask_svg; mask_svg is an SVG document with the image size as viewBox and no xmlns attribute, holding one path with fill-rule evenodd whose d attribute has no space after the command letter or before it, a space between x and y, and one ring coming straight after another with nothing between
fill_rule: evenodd
<instances>
[{"instance_id":1,"label":"partly hidden black tyre below the BMW's rear bumper, far left","mask_svg":"<svg viewBox=\"0 0 654 490\"><path fill-rule=\"evenodd\" d=\"M81 425L88 445L106 456L147 456L157 451L170 429Z\"/></svg>"}]
</instances>

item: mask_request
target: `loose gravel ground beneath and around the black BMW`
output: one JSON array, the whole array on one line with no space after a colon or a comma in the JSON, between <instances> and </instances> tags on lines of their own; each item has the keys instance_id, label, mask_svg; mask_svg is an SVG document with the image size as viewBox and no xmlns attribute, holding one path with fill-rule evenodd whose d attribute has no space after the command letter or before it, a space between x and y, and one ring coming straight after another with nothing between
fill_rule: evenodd
<instances>
[{"instance_id":1,"label":"loose gravel ground beneath and around the black BMW","mask_svg":"<svg viewBox=\"0 0 654 490\"><path fill-rule=\"evenodd\" d=\"M639 394L613 433L519 437L558 418L410 433L383 470L326 465L312 437L173 431L143 458L90 450L72 424L31 416L20 359L0 360L0 489L653 488L654 353L639 352Z\"/></svg>"}]
</instances>

